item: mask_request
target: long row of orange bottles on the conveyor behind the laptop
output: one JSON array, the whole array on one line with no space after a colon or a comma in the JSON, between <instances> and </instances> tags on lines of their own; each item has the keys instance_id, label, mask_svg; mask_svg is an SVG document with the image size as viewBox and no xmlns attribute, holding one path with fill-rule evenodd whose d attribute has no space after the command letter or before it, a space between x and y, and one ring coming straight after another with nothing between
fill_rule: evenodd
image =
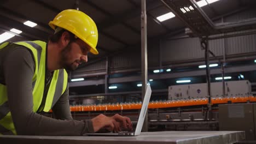
<instances>
[{"instance_id":1,"label":"long row of orange bottles on the conveyor behind the laptop","mask_svg":"<svg viewBox=\"0 0 256 144\"><path fill-rule=\"evenodd\" d=\"M247 103L256 102L256 97L226 97L212 98L212 104L226 104L228 101L232 103ZM206 105L208 99L188 99L188 100L167 100L167 101L152 101L149 103L149 109L181 107L193 105ZM121 104L102 104L102 105L74 105L70 106L71 111L113 111L113 110L137 110L141 109L141 103L121 103Z\"/></svg>"}]
</instances>

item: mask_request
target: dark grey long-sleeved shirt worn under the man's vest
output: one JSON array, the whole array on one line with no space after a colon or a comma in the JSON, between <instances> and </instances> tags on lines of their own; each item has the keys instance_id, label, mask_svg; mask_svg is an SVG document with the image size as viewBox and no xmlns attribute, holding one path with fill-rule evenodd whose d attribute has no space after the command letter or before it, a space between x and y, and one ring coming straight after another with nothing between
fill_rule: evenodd
<instances>
[{"instance_id":1,"label":"dark grey long-sleeved shirt worn under the man's vest","mask_svg":"<svg viewBox=\"0 0 256 144\"><path fill-rule=\"evenodd\" d=\"M33 55L26 47L10 44L8 49L0 50L0 83L7 86L9 108L18 135L93 133L91 120L76 121L72 118L68 88L52 108L56 119L33 112L34 68ZM46 77L51 80L49 71ZM0 133L4 134L1 127Z\"/></svg>"}]
</instances>

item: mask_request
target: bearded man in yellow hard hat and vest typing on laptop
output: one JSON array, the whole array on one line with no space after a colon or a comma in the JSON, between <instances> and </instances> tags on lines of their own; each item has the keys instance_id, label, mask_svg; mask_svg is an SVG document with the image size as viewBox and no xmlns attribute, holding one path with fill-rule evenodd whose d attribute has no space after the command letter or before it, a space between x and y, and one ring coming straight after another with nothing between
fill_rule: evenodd
<instances>
[{"instance_id":1,"label":"bearded man in yellow hard hat and vest typing on laptop","mask_svg":"<svg viewBox=\"0 0 256 144\"><path fill-rule=\"evenodd\" d=\"M132 129L120 115L75 121L68 101L66 70L98 54L95 22L82 11L63 10L49 22L49 42L0 45L0 133L3 135L83 135L99 130ZM65 70L66 69L66 70ZM56 117L40 115L53 110Z\"/></svg>"}]
</instances>

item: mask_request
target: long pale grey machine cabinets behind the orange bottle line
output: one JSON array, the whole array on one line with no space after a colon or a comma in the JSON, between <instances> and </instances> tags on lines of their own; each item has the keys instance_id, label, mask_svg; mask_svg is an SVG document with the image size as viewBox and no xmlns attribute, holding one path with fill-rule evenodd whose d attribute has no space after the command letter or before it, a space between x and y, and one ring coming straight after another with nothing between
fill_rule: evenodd
<instances>
[{"instance_id":1,"label":"long pale grey machine cabinets behind the orange bottle line","mask_svg":"<svg viewBox=\"0 0 256 144\"><path fill-rule=\"evenodd\" d=\"M212 98L224 97L246 97L251 95L251 82L247 80L226 81L225 95L223 95L222 82L211 83ZM207 83L197 83L191 85L175 85L168 87L169 100L181 99L199 99L205 98L207 95Z\"/></svg>"}]
</instances>

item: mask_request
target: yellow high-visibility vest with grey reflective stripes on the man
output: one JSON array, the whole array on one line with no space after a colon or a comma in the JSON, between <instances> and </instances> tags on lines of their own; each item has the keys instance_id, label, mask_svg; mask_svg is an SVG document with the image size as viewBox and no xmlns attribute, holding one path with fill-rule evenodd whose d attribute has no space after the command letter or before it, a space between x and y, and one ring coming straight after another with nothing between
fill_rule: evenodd
<instances>
[{"instance_id":1,"label":"yellow high-visibility vest with grey reflective stripes on the man","mask_svg":"<svg viewBox=\"0 0 256 144\"><path fill-rule=\"evenodd\" d=\"M7 45L9 44L11 43L5 42L1 44L0 50L8 49ZM46 43L37 40L20 41L14 44L27 47L27 49L32 52L32 55L34 57L35 69L31 82L33 86L33 112L37 112L42 103L45 88ZM67 71L65 69L54 71L53 79L51 80L45 99L45 105L42 111L48 112L51 107L53 107L53 105L56 103L57 99L59 99L60 96L66 91L68 80L67 77ZM8 134L17 134L8 105L7 87L3 83L0 83L0 127L4 129L4 131L6 130Z\"/></svg>"}]
</instances>

